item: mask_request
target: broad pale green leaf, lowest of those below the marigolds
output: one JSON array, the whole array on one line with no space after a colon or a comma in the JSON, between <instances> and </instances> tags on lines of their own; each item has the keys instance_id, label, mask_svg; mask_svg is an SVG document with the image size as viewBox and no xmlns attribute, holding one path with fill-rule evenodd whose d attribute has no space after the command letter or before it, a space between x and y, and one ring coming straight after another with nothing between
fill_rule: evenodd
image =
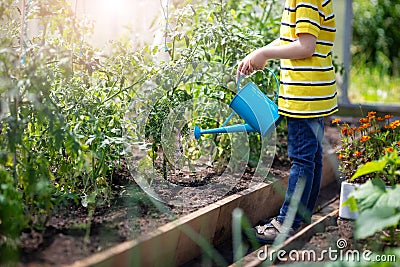
<instances>
[{"instance_id":1,"label":"broad pale green leaf, lowest of those below the marigolds","mask_svg":"<svg viewBox=\"0 0 400 267\"><path fill-rule=\"evenodd\" d=\"M378 231L398 225L400 213L393 207L377 207L360 212L355 222L355 237L366 238Z\"/></svg>"}]
</instances>

